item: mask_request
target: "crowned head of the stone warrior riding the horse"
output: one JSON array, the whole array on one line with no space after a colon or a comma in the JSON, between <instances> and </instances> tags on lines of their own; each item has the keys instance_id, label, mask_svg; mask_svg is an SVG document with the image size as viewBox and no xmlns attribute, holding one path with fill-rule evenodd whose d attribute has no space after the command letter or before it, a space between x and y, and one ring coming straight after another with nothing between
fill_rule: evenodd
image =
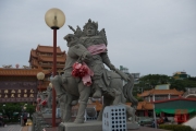
<instances>
[{"instance_id":1,"label":"crowned head of the stone warrior riding the horse","mask_svg":"<svg viewBox=\"0 0 196 131\"><path fill-rule=\"evenodd\" d=\"M90 19L88 20L88 23L84 25L84 32L86 36L95 36L98 33L98 23L91 21Z\"/></svg>"}]
</instances>

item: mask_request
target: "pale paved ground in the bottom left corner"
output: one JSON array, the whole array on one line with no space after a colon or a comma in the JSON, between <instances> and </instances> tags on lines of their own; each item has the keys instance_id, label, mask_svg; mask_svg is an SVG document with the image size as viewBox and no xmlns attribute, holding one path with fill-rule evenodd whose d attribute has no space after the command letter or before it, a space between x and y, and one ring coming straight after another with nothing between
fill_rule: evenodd
<instances>
[{"instance_id":1,"label":"pale paved ground in the bottom left corner","mask_svg":"<svg viewBox=\"0 0 196 131\"><path fill-rule=\"evenodd\" d=\"M20 124L9 124L7 127L0 127L0 131L32 131L30 126L21 127Z\"/></svg>"}]
</instances>

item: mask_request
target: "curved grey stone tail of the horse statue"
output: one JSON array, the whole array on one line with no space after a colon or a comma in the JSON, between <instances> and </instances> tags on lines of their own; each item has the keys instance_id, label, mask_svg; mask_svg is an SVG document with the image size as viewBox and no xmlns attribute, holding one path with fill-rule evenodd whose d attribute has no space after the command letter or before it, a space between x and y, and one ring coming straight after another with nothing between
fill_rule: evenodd
<instances>
[{"instance_id":1,"label":"curved grey stone tail of the horse statue","mask_svg":"<svg viewBox=\"0 0 196 131\"><path fill-rule=\"evenodd\" d=\"M133 96L134 78L130 73L127 75L130 81L123 86L123 94L124 97L132 103L132 107L136 109L138 100Z\"/></svg>"}]
</instances>

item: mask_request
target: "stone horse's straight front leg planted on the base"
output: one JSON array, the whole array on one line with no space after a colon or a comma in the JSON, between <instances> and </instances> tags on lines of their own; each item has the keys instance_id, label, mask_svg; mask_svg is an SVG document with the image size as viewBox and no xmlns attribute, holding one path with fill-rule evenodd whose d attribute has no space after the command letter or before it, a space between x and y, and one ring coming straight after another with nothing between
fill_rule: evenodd
<instances>
[{"instance_id":1,"label":"stone horse's straight front leg planted on the base","mask_svg":"<svg viewBox=\"0 0 196 131\"><path fill-rule=\"evenodd\" d=\"M84 115L85 109L87 106L88 97L90 94L90 87L85 86L83 82L78 83L78 92L79 92L79 107L77 110L77 117L75 119L75 123L83 123L84 122Z\"/></svg>"}]
</instances>

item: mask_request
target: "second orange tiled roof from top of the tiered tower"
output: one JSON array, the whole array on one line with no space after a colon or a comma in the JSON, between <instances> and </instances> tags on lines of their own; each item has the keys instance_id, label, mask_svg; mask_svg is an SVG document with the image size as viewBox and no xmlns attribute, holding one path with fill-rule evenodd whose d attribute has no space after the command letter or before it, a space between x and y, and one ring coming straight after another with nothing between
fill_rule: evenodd
<instances>
[{"instance_id":1,"label":"second orange tiled roof from top of the tiered tower","mask_svg":"<svg viewBox=\"0 0 196 131\"><path fill-rule=\"evenodd\" d=\"M53 57L52 56L39 56L38 60L40 61L53 61ZM57 62L65 62L65 56L63 57L57 57Z\"/></svg>"}]
</instances>

